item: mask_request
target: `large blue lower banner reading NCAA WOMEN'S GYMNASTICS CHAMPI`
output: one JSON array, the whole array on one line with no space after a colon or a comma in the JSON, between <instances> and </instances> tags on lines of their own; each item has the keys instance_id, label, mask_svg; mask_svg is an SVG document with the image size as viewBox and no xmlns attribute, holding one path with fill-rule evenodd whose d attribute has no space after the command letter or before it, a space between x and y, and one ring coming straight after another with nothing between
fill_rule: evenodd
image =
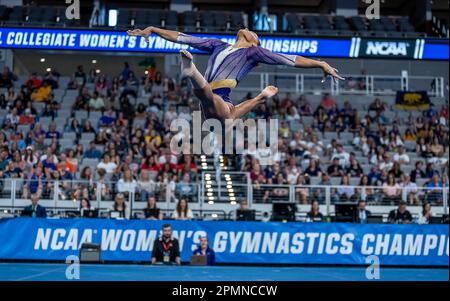
<instances>
[{"instance_id":1,"label":"large blue lower banner reading NCAA WOMEN'S GYMNASTICS CHAMPI","mask_svg":"<svg viewBox=\"0 0 450 301\"><path fill-rule=\"evenodd\" d=\"M81 243L101 245L102 260L150 261L155 238L170 223L188 261L207 236L218 263L448 266L448 225L360 225L146 221L112 219L0 219L0 259L65 260Z\"/></svg>"}]
</instances>

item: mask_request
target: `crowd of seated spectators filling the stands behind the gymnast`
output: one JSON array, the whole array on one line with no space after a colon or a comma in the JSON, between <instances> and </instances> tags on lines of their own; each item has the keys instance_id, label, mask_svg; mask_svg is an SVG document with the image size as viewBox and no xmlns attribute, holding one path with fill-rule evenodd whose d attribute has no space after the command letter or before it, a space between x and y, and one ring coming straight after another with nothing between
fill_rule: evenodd
<instances>
[{"instance_id":1,"label":"crowd of seated spectators filling the stands behind the gymnast","mask_svg":"<svg viewBox=\"0 0 450 301\"><path fill-rule=\"evenodd\" d=\"M171 121L191 120L190 112L198 108L186 79L154 71L138 77L127 63L112 78L86 73L83 66L67 86L59 78L49 71L19 82L9 69L3 71L1 185L6 178L23 179L24 198L113 200L130 192L141 201L167 194L174 200L196 197L198 158L170 150ZM75 91L68 107L55 97L58 89ZM36 109L39 102L42 110ZM250 114L281 120L275 163L261 166L257 148L248 144L249 151L227 162L230 169L250 173L256 202L286 198L289 184L299 185L296 200L304 204L325 198L323 188L309 185L331 184L340 185L331 192L333 201L442 202L439 189L448 187L448 105L430 106L417 117L405 112L392 117L391 110L380 98L358 111L329 94L317 105L307 95L276 95ZM80 118L78 112L86 115ZM51 122L44 125L44 119ZM326 138L329 133L332 139Z\"/></svg>"}]
</instances>

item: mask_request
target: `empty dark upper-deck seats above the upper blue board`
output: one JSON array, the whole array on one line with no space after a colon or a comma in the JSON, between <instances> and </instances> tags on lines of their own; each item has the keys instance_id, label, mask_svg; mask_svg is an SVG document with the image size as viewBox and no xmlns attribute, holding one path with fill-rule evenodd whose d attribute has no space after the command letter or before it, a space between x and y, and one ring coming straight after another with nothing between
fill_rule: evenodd
<instances>
[{"instance_id":1,"label":"empty dark upper-deck seats above the upper blue board","mask_svg":"<svg viewBox=\"0 0 450 301\"><path fill-rule=\"evenodd\" d=\"M67 20L65 7L59 6L0 6L0 22L6 25L32 24L40 26L88 27L89 20ZM239 11L186 11L178 13L164 9L123 8L118 11L117 28L160 26L184 31L225 32L236 31L244 24L244 12ZM278 14L286 20L283 31L305 35L346 35L374 37L425 36L418 32L405 16L382 17L368 20L362 16L345 18L331 15ZM280 22L282 24L283 22ZM248 25L251 27L251 24ZM280 28L281 29L281 28ZM281 31L281 30L279 30Z\"/></svg>"}]
</instances>

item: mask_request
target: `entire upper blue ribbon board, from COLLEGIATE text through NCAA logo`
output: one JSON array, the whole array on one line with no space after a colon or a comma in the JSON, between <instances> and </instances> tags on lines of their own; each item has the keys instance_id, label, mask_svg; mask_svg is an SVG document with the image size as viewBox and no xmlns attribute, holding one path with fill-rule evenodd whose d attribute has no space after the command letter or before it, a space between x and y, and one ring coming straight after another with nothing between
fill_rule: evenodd
<instances>
[{"instance_id":1,"label":"entire upper blue ribbon board, from COLLEGIATE text through NCAA logo","mask_svg":"<svg viewBox=\"0 0 450 301\"><path fill-rule=\"evenodd\" d=\"M230 44L235 41L234 35L193 35L217 38ZM273 52L302 56L448 60L448 40L269 35L262 35L260 40L262 47ZM176 53L188 46L166 41L156 35L151 35L147 43L141 37L128 36L125 31L4 27L0 28L0 48Z\"/></svg>"}]
</instances>

